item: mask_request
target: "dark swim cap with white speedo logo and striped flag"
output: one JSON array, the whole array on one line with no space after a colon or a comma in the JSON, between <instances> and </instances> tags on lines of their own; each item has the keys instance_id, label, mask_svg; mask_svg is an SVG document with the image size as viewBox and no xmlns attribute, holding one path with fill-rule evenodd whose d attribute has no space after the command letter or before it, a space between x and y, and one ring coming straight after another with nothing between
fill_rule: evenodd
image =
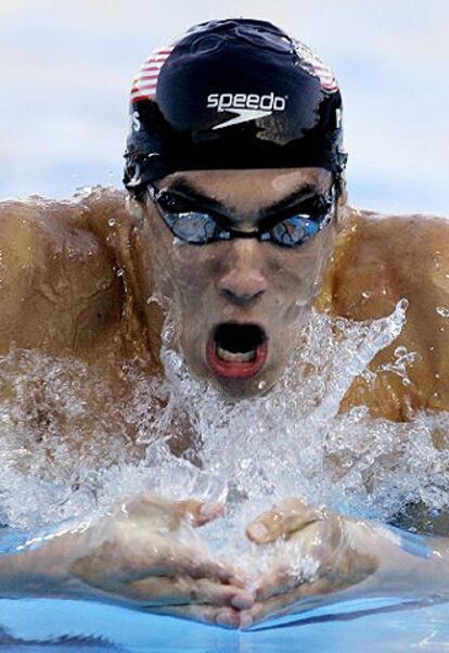
<instances>
[{"instance_id":1,"label":"dark swim cap with white speedo logo and striped flag","mask_svg":"<svg viewBox=\"0 0 449 653\"><path fill-rule=\"evenodd\" d=\"M331 71L278 27L192 27L143 63L131 90L128 190L177 170L322 167L337 179L342 97Z\"/></svg>"}]
</instances>

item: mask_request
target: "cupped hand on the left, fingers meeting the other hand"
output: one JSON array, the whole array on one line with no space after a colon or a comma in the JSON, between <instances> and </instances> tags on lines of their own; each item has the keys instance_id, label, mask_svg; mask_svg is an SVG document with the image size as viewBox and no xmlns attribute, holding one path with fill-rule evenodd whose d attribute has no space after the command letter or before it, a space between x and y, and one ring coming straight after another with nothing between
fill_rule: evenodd
<instances>
[{"instance_id":1,"label":"cupped hand on the left, fingers meeting the other hand","mask_svg":"<svg viewBox=\"0 0 449 653\"><path fill-rule=\"evenodd\" d=\"M239 627L240 610L254 604L245 578L214 560L192 529L220 514L219 504L138 497L91 527L70 573L149 612Z\"/></svg>"}]
</instances>

